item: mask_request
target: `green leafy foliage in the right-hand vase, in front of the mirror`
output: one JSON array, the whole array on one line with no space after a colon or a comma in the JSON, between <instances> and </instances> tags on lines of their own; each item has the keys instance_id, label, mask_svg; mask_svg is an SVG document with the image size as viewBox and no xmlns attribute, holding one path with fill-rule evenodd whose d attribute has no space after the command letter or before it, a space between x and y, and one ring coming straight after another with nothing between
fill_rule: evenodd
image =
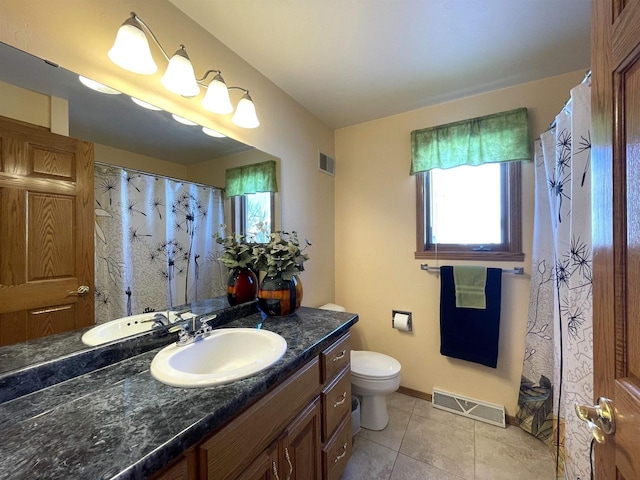
<instances>
[{"instance_id":1,"label":"green leafy foliage in the right-hand vase, in front of the mirror","mask_svg":"<svg viewBox=\"0 0 640 480\"><path fill-rule=\"evenodd\" d=\"M304 251L312 245L306 238L304 243L304 247L300 248L298 233L295 231L272 233L268 243L253 247L255 269L266 272L267 277L280 275L283 280L291 280L294 275L304 271L304 262L309 260L309 255Z\"/></svg>"}]
</instances>

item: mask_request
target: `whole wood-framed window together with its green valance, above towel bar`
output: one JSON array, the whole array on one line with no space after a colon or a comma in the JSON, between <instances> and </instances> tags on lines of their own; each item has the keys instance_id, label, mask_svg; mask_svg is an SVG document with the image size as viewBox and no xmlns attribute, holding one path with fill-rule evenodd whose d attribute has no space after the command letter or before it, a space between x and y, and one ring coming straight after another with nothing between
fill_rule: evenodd
<instances>
[{"instance_id":1,"label":"whole wood-framed window together with its green valance, above towel bar","mask_svg":"<svg viewBox=\"0 0 640 480\"><path fill-rule=\"evenodd\" d=\"M526 108L411 132L416 258L524 260L520 161L529 149Z\"/></svg>"}]
</instances>

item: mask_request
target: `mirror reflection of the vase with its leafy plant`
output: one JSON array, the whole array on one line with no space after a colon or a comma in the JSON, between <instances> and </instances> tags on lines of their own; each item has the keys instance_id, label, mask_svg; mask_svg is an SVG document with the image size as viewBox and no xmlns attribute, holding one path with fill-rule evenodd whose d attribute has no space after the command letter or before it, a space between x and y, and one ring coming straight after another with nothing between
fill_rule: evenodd
<instances>
[{"instance_id":1,"label":"mirror reflection of the vase with its leafy plant","mask_svg":"<svg viewBox=\"0 0 640 480\"><path fill-rule=\"evenodd\" d=\"M251 302L258 293L258 277L253 271L252 244L245 235L232 235L224 228L225 235L216 233L216 243L222 245L223 253L218 257L227 269L227 300L230 305Z\"/></svg>"}]
</instances>

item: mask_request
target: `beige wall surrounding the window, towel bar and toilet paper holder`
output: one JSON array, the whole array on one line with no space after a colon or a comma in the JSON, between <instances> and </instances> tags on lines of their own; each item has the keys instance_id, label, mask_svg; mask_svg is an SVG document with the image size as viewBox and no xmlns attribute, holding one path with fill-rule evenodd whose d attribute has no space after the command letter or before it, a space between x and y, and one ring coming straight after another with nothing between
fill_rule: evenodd
<instances>
[{"instance_id":1,"label":"beige wall surrounding the window, towel bar and toilet paper holder","mask_svg":"<svg viewBox=\"0 0 640 480\"><path fill-rule=\"evenodd\" d=\"M441 356L439 277L414 259L415 179L409 175L415 129L527 107L531 138L548 128L584 71L382 118L336 131L336 303L358 312L355 347L402 364L402 385L433 387L505 405L515 414L524 354L529 275L505 275L498 368ZM522 264L531 269L533 166L523 168ZM435 261L429 263L435 264ZM440 260L441 264L455 262ZM391 310L413 312L413 332L391 328Z\"/></svg>"}]
</instances>

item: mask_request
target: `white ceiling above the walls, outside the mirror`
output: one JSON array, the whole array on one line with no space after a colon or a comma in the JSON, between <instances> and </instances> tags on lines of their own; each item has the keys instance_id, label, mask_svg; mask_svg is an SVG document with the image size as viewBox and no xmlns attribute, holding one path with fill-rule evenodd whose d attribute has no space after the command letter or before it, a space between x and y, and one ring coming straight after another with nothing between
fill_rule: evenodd
<instances>
[{"instance_id":1,"label":"white ceiling above the walls, outside the mirror","mask_svg":"<svg viewBox=\"0 0 640 480\"><path fill-rule=\"evenodd\" d=\"M590 0L170 1L334 128L589 68Z\"/></svg>"}]
</instances>

